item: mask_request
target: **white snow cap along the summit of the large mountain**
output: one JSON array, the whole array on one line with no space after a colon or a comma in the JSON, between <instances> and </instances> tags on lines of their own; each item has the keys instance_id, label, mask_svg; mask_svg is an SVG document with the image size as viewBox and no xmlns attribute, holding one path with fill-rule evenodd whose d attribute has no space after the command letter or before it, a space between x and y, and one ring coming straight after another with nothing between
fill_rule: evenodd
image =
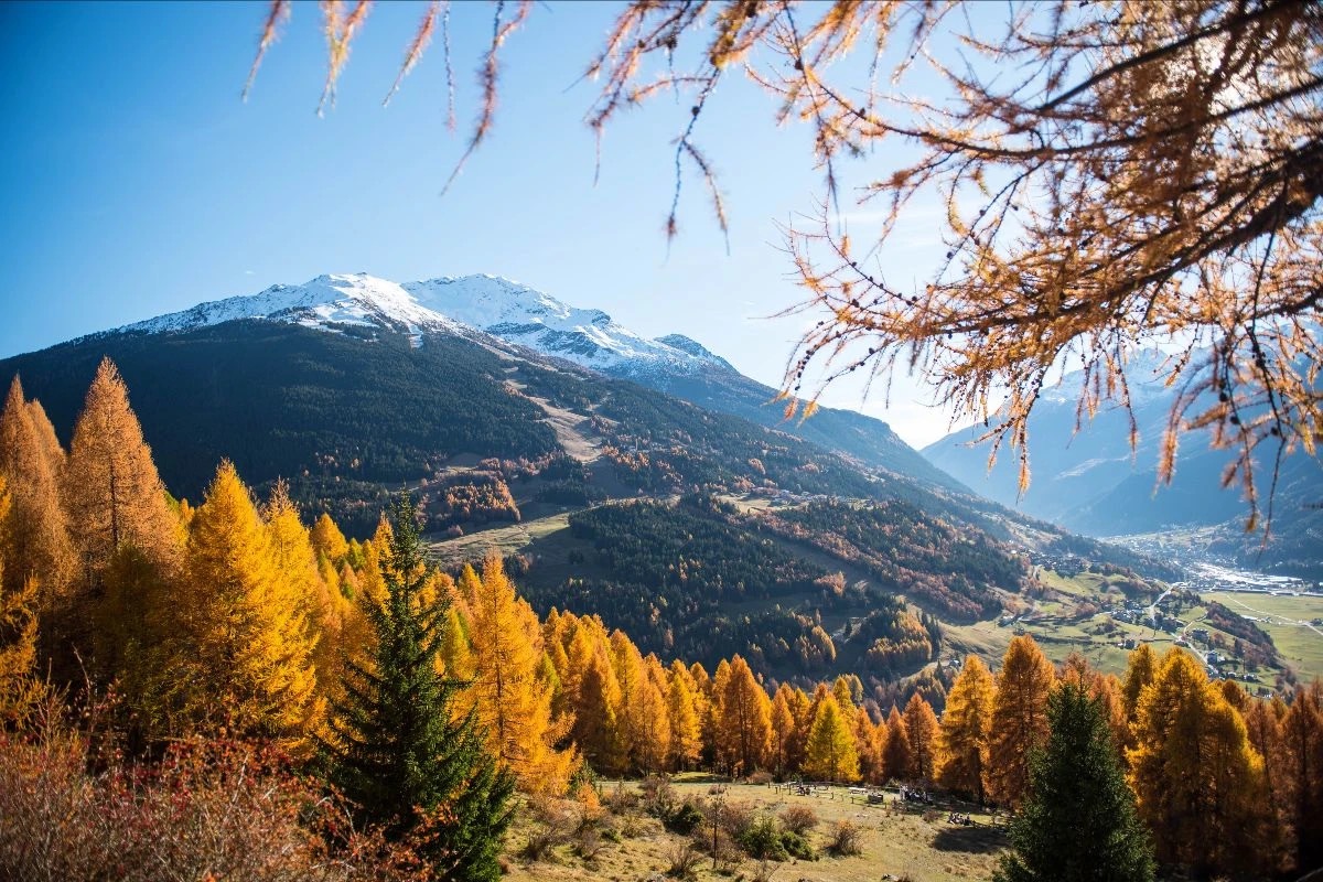
<instances>
[{"instance_id":1,"label":"white snow cap along the summit of the large mountain","mask_svg":"<svg viewBox=\"0 0 1323 882\"><path fill-rule=\"evenodd\" d=\"M275 284L259 294L202 303L116 331L164 333L237 319L292 321L325 331L347 324L405 329L415 345L426 332L478 329L585 368L626 376L730 368L688 337L648 340L601 309L579 309L495 275L404 284L366 272L319 275L304 284Z\"/></svg>"}]
</instances>

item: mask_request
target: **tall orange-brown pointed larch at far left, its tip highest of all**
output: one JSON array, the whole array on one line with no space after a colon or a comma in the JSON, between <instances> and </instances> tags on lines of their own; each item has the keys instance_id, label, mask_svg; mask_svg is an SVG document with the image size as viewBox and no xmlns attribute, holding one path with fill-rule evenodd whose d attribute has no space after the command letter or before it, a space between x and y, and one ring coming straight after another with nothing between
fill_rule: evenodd
<instances>
[{"instance_id":1,"label":"tall orange-brown pointed larch at far left, its tip highest of all","mask_svg":"<svg viewBox=\"0 0 1323 882\"><path fill-rule=\"evenodd\" d=\"M179 518L165 500L128 387L110 358L97 368L74 423L65 497L91 579L124 545L140 549L167 573L177 566Z\"/></svg>"}]
</instances>

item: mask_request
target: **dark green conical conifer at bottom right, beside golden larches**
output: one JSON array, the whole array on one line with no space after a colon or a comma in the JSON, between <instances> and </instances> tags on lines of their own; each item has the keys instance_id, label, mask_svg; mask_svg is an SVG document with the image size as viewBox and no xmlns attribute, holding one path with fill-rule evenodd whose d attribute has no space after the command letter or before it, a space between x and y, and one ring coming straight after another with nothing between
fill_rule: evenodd
<instances>
[{"instance_id":1,"label":"dark green conical conifer at bottom right, beside golden larches","mask_svg":"<svg viewBox=\"0 0 1323 882\"><path fill-rule=\"evenodd\" d=\"M1065 682L1048 739L1029 759L1029 796L1011 821L998 882L1150 882L1152 848L1097 698Z\"/></svg>"}]
</instances>

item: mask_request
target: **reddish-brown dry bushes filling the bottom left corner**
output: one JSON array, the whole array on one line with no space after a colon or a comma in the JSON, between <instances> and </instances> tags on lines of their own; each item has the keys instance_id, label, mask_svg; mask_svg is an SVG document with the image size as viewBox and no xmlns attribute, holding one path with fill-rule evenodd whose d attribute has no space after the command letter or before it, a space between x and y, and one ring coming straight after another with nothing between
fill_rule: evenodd
<instances>
[{"instance_id":1,"label":"reddish-brown dry bushes filling the bottom left corner","mask_svg":"<svg viewBox=\"0 0 1323 882\"><path fill-rule=\"evenodd\" d=\"M87 738L61 726L0 735L4 878L411 879L406 845L353 832L348 812L243 742L191 741L157 764L111 754L95 775Z\"/></svg>"}]
</instances>

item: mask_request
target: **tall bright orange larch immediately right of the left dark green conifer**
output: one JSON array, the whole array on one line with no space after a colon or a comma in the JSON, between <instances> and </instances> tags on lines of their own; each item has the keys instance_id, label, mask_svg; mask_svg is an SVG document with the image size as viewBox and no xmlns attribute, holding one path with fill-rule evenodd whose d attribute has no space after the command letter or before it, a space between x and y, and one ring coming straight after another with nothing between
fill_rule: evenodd
<instances>
[{"instance_id":1,"label":"tall bright orange larch immediately right of the left dark green conifer","mask_svg":"<svg viewBox=\"0 0 1323 882\"><path fill-rule=\"evenodd\" d=\"M521 789L561 795L578 766L558 748L573 721L553 717L552 689L540 676L542 633L528 602L515 592L500 558L483 561L472 599L472 698L487 748L515 774Z\"/></svg>"}]
</instances>

